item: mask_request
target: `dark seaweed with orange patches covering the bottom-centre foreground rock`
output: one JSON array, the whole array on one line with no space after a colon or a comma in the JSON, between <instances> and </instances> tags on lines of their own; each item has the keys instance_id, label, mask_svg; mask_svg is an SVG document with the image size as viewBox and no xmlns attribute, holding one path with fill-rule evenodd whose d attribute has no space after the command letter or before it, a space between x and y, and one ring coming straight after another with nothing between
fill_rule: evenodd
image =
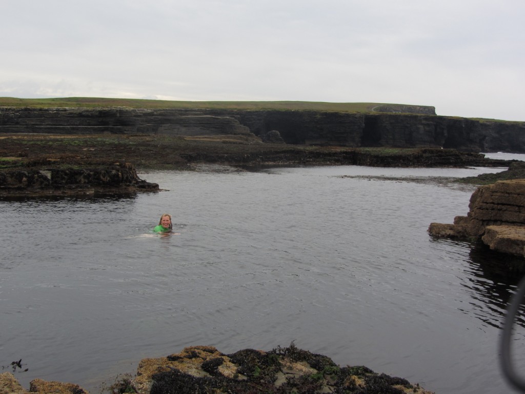
<instances>
[{"instance_id":1,"label":"dark seaweed with orange patches covering the bottom-centre foreground rock","mask_svg":"<svg viewBox=\"0 0 525 394\"><path fill-rule=\"evenodd\" d=\"M203 360L199 364L200 371L177 369L184 368L184 359L195 365L194 349L199 350L198 357ZM299 349L293 342L286 348L277 347L268 352L244 349L225 355L213 347L206 349L207 355L203 353L204 347L195 347L184 349L180 355L169 356L176 366L159 369L151 376L150 393L429 393L406 379L376 374L364 366L341 368L331 358Z\"/></svg>"}]
</instances>

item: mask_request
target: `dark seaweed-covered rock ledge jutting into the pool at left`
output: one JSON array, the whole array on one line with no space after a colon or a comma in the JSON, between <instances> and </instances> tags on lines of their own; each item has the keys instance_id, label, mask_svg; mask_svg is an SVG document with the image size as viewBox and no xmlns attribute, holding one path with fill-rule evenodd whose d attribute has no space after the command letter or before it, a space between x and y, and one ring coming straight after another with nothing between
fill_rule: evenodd
<instances>
[{"instance_id":1,"label":"dark seaweed-covered rock ledge jutting into the pool at left","mask_svg":"<svg viewBox=\"0 0 525 394\"><path fill-rule=\"evenodd\" d=\"M99 168L49 168L0 172L0 196L126 194L159 190L130 163Z\"/></svg>"}]
</instances>

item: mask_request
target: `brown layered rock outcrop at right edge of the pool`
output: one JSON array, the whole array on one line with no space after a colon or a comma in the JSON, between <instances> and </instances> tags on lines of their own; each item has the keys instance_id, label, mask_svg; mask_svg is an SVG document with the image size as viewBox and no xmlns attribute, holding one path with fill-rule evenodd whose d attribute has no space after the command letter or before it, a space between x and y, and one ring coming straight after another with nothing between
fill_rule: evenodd
<instances>
[{"instance_id":1,"label":"brown layered rock outcrop at right edge of the pool","mask_svg":"<svg viewBox=\"0 0 525 394\"><path fill-rule=\"evenodd\" d=\"M428 232L481 240L492 250L525 257L525 179L481 186L470 197L469 209L454 224L431 223Z\"/></svg>"}]
</instances>

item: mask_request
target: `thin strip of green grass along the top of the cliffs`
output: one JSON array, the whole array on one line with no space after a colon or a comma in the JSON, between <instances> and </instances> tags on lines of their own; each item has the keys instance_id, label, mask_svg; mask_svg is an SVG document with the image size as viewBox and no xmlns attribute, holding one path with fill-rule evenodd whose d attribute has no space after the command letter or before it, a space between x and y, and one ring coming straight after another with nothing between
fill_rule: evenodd
<instances>
[{"instance_id":1,"label":"thin strip of green grass along the top of the cliffs","mask_svg":"<svg viewBox=\"0 0 525 394\"><path fill-rule=\"evenodd\" d=\"M100 97L64 97L47 99L22 99L0 97L0 107L125 107L144 109L246 109L246 110L318 110L339 112L372 112L374 107L397 104L372 102L314 102L314 101L167 101Z\"/></svg>"}]
</instances>

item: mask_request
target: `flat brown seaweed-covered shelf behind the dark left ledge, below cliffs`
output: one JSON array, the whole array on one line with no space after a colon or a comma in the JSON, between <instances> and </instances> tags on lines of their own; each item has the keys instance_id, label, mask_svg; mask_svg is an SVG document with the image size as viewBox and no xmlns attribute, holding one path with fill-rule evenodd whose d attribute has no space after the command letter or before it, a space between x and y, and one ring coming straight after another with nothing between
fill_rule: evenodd
<instances>
[{"instance_id":1,"label":"flat brown seaweed-covered shelf behind the dark left ledge, below cliffs","mask_svg":"<svg viewBox=\"0 0 525 394\"><path fill-rule=\"evenodd\" d=\"M454 149L349 148L262 143L252 136L0 134L0 169L93 167L108 160L138 169L227 165L370 165L374 167L508 167L505 160ZM111 163L111 162L110 162Z\"/></svg>"}]
</instances>

